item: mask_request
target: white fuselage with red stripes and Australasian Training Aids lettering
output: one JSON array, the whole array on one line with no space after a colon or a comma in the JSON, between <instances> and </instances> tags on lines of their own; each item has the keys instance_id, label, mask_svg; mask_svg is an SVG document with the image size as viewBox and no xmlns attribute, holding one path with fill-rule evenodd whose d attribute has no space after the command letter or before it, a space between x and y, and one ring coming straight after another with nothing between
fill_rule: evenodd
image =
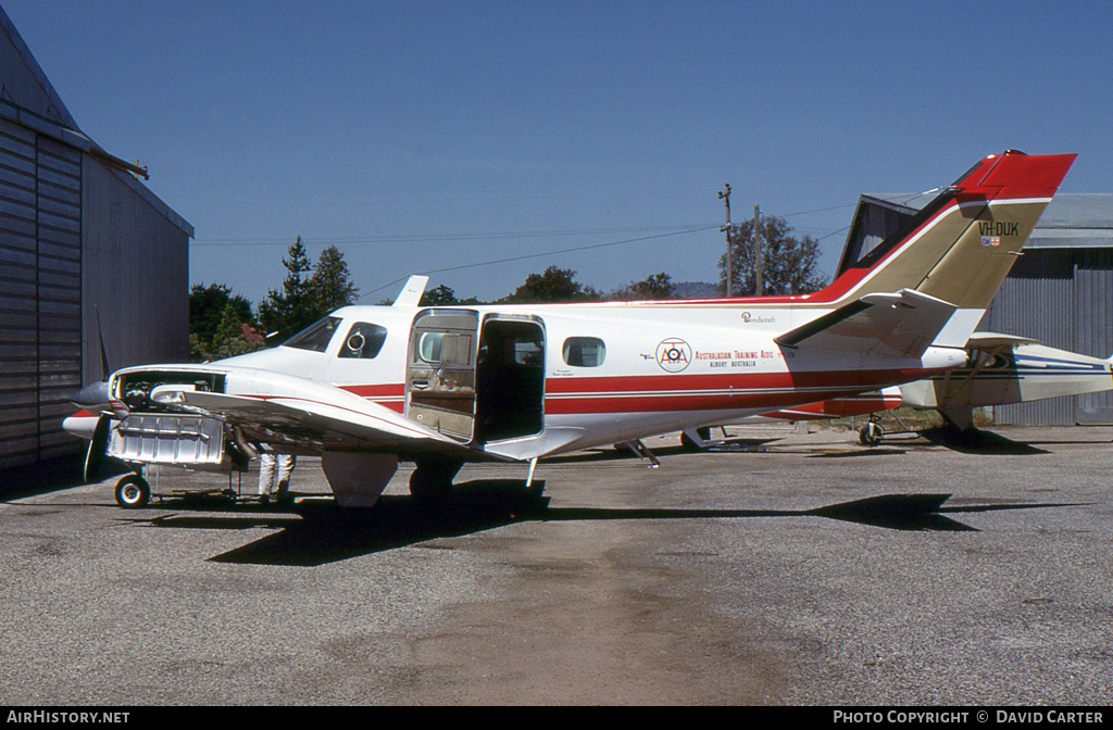
<instances>
[{"instance_id":1,"label":"white fuselage with red stripes and Australasian Training Aids lettering","mask_svg":"<svg viewBox=\"0 0 1113 730\"><path fill-rule=\"evenodd\" d=\"M453 407L477 418L485 402L498 401L498 417L510 418L510 408L532 408L540 420L523 423L516 431L492 432L493 438L479 434L472 438L463 433L466 427L455 427L456 437L474 442L484 453L515 460L728 423L873 391L943 372L961 365L965 357L962 351L939 347L910 359L777 345L774 337L820 314L810 307L662 303L432 312L452 315L461 310L474 313L479 332L457 369L465 377L471 369L476 379L471 396L447 394L456 397ZM229 371L227 393L232 395L264 397L264 391L273 389L268 373L280 373L341 388L421 422L415 416L415 397L422 393L414 378L407 381L407 367L413 367L414 353L421 349L415 322L429 312L346 307L334 313L339 323L321 352L283 346L210 367ZM486 328L494 332L495 323L519 323L540 335L541 352L534 337L522 358L533 358L529 365L543 386L522 386L519 383L529 378L506 377L485 389L484 356L489 353L484 353L484 342L491 339ZM373 358L341 356L348 333L361 324L385 328L381 349Z\"/></svg>"}]
</instances>

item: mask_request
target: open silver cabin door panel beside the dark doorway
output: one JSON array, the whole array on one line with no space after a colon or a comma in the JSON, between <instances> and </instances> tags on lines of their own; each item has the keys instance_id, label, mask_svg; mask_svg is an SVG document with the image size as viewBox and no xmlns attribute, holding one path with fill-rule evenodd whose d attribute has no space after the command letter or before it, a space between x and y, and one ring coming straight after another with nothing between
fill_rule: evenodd
<instances>
[{"instance_id":1,"label":"open silver cabin door panel beside the dark doorway","mask_svg":"<svg viewBox=\"0 0 1113 730\"><path fill-rule=\"evenodd\" d=\"M466 309L417 315L406 366L406 416L462 442L475 424L479 315Z\"/></svg>"}]
</instances>

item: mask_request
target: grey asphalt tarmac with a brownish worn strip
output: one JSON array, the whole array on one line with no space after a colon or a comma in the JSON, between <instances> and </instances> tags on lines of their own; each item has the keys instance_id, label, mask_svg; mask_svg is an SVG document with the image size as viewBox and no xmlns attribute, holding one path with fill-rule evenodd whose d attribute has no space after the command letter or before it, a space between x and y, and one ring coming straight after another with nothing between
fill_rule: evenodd
<instances>
[{"instance_id":1,"label":"grey asphalt tarmac with a brownish worn strip","mask_svg":"<svg viewBox=\"0 0 1113 730\"><path fill-rule=\"evenodd\" d=\"M1113 697L1113 428L730 433L699 454L647 442L659 468L543 462L543 494L524 466L469 465L418 505L403 467L354 513L308 458L293 509L183 499L229 481L168 470L142 510L116 506L116 477L0 476L0 702Z\"/></svg>"}]
</instances>

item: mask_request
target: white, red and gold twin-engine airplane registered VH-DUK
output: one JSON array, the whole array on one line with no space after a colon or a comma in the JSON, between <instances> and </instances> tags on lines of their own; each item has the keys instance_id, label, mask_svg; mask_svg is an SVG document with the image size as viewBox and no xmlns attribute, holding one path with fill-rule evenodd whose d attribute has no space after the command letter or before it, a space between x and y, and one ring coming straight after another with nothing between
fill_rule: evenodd
<instances>
[{"instance_id":1,"label":"white, red and gold twin-engine airplane registered VH-DUK","mask_svg":"<svg viewBox=\"0 0 1113 730\"><path fill-rule=\"evenodd\" d=\"M815 294L422 308L420 282L274 349L117 371L67 427L136 467L319 454L337 502L370 506L400 460L415 495L465 462L528 462L531 481L544 456L929 378L966 363L1074 157L986 157ZM122 502L146 502L126 480Z\"/></svg>"}]
</instances>

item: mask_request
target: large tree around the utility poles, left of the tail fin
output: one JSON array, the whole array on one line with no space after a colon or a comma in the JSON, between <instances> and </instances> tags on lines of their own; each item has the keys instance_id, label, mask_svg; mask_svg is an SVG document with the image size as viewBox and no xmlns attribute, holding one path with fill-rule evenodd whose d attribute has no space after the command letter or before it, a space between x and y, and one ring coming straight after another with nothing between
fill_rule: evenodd
<instances>
[{"instance_id":1,"label":"large tree around the utility poles, left of the tail fin","mask_svg":"<svg viewBox=\"0 0 1113 730\"><path fill-rule=\"evenodd\" d=\"M791 236L792 228L784 218L765 216L758 233L761 236L761 278L764 294L787 295L817 292L827 284L819 272L819 241L811 236ZM730 227L730 250L735 295L752 295L757 290L754 266L754 221ZM719 290L727 290L727 256L719 257Z\"/></svg>"}]
</instances>

